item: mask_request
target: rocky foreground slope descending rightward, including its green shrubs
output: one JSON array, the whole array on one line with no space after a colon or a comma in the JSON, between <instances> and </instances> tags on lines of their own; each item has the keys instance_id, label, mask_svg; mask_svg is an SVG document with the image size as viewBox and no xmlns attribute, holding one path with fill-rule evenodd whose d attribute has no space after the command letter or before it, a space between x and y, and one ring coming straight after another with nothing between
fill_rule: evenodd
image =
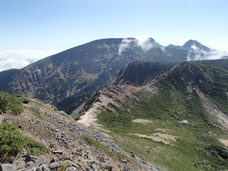
<instances>
[{"instance_id":1,"label":"rocky foreground slope descending rightward, including its green shrubs","mask_svg":"<svg viewBox=\"0 0 228 171\"><path fill-rule=\"evenodd\" d=\"M3 92L0 92L0 154L0 170L2 167L18 171L163 169L133 157L107 134L83 127L53 106Z\"/></svg>"}]
</instances>

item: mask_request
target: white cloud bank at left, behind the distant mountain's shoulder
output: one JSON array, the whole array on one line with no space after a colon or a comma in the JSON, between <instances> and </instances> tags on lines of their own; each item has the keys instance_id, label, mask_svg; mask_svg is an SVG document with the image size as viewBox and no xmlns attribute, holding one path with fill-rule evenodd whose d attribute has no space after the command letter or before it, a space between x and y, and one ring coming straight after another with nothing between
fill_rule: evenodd
<instances>
[{"instance_id":1,"label":"white cloud bank at left, behind the distant mountain's shoulder","mask_svg":"<svg viewBox=\"0 0 228 171\"><path fill-rule=\"evenodd\" d=\"M60 50L2 50L0 51L0 71L20 69Z\"/></svg>"}]
</instances>

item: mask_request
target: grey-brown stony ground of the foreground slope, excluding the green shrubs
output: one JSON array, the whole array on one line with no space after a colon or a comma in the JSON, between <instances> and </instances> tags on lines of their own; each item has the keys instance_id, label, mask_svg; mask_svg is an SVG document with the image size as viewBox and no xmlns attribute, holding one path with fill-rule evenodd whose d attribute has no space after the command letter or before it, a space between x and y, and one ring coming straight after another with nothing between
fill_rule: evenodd
<instances>
[{"instance_id":1,"label":"grey-brown stony ground of the foreground slope, excluding the green shrubs","mask_svg":"<svg viewBox=\"0 0 228 171\"><path fill-rule=\"evenodd\" d=\"M83 127L49 105L30 99L24 107L18 116L1 114L1 122L16 124L23 135L41 142L48 153L30 155L23 149L4 161L0 170L165 170L123 151L107 134Z\"/></svg>"}]
</instances>

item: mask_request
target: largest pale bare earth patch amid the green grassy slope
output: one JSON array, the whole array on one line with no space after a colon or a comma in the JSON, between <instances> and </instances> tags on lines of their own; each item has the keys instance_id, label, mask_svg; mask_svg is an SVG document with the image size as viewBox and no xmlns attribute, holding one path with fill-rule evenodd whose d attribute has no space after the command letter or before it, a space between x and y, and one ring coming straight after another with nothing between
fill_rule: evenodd
<instances>
[{"instance_id":1,"label":"largest pale bare earth patch amid the green grassy slope","mask_svg":"<svg viewBox=\"0 0 228 171\"><path fill-rule=\"evenodd\" d=\"M138 137L142 137L142 138L149 138L153 141L156 142L162 142L164 144L171 144L172 142L176 142L176 137L173 135L169 135L169 134L163 134L163 133L154 133L153 135L145 135L145 134L132 134L132 135L136 135Z\"/></svg>"}]
</instances>

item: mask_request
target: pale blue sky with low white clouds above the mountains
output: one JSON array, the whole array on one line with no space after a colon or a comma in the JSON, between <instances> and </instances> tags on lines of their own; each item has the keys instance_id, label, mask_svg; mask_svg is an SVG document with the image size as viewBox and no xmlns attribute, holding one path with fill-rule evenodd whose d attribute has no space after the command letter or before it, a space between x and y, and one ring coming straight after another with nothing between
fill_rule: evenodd
<instances>
[{"instance_id":1,"label":"pale blue sky with low white clouds above the mountains","mask_svg":"<svg viewBox=\"0 0 228 171\"><path fill-rule=\"evenodd\" d=\"M101 38L228 51L228 0L0 0L0 71Z\"/></svg>"}]
</instances>

